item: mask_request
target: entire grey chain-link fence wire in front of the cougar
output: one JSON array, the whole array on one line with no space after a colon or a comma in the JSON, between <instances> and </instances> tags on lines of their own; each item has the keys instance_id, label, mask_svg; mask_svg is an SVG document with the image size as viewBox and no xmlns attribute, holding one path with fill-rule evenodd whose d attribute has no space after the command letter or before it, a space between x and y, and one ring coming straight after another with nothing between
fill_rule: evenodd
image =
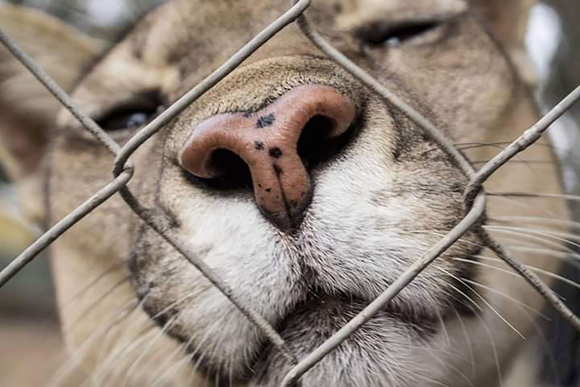
<instances>
[{"instance_id":1,"label":"entire grey chain-link fence wire in front of the cougar","mask_svg":"<svg viewBox=\"0 0 580 387\"><path fill-rule=\"evenodd\" d=\"M111 153L116 155L113 166L114 180L108 183L103 189L99 190L92 197L90 197L83 204L79 205L73 212L68 214L65 218L59 220L54 226L38 238L30 245L23 253L16 259L9 263L0 272L0 287L7 283L12 277L18 273L27 263L31 262L45 248L47 248L53 241L55 241L61 234L66 232L71 226L84 218L85 215L92 212L99 207L104 201L108 200L113 194L119 192L126 203L133 209L133 211L151 228L153 228L161 237L171 244L177 251L179 251L184 258L194 265L213 285L215 285L230 301L246 316L260 331L273 343L274 346L281 353L284 354L293 364L293 368L288 372L282 381L282 386L293 386L299 384L300 377L313 367L325 355L331 352L336 346L340 345L347 337L361 327L368 321L374 313L382 309L387 302L391 301L405 286L407 286L423 269L430 265L438 258L445 250L454 244L466 232L477 226L485 212L485 193L483 191L483 183L490 178L490 176L507 161L511 160L514 155L520 153L531 144L535 143L542 135L542 133L562 114L567 111L572 104L580 100L580 86L565 97L556 107L554 107L548 114L541 118L535 125L525 131L523 135L506 147L501 153L496 155L492 160L483 165L478 171L475 171L472 164L467 158L459 152L455 146L447 139L443 132L439 131L429 120L419 114L409 104L401 100L398 96L391 93L383 85L381 85L371 75L362 70L359 66L351 62L333 48L328 42L322 38L313 28L311 28L309 21L304 15L305 10L310 6L310 0L293 0L292 7L282 16L278 17L273 23L264 28L251 41L244 45L237 53L224 62L217 70L206 77L198 85L196 85L189 92L184 94L180 99L168 107L164 113L144 126L136 133L123 147L120 147L102 128L99 127L88 115L82 113L81 109L71 100L70 96L64 92L52 78L50 78L43 70L34 62L17 44L12 41L2 30L0 30L0 42L21 63L28 68L28 70L56 97L57 100L64 107L70 111L82 126L92 133L95 138L103 143ZM153 208L145 208L131 191L126 186L133 176L135 167L131 164L130 157L135 150L139 148L147 139L151 138L155 133L160 131L168 122L173 120L184 108L189 106L205 92L218 84L224 77L235 70L245 59L252 55L260 46L269 41L271 37L276 35L282 28L288 26L293 21L297 21L300 29L307 38L313 42L322 52L331 57L336 63L345 68L351 75L357 78L362 84L366 85L373 92L377 93L385 103L401 110L411 121L423 129L432 137L441 148L447 152L462 171L470 178L465 190L465 217L437 244L427 250L423 256L417 259L407 270L403 272L389 287L383 291L374 301L372 301L364 310L351 319L345 326L340 328L335 334L323 342L318 348L307 355L304 359L298 361L295 356L285 345L284 339L278 334L271 324L264 319L260 314L253 309L243 305L240 298L213 270L206 265L197 255L189 249L186 243L180 241L167 226L167 220L163 215ZM538 291L543 298L546 299L553 308L558 310L567 321L569 321L575 328L580 330L580 319L575 316L570 309L565 306L563 302L557 297L550 288L539 279L536 274L527 269L525 265L518 262L516 259L507 255L505 249L496 243L487 233L480 231L483 234L485 244L495 252L507 265L511 266L517 273L519 273L532 287Z\"/></svg>"}]
</instances>

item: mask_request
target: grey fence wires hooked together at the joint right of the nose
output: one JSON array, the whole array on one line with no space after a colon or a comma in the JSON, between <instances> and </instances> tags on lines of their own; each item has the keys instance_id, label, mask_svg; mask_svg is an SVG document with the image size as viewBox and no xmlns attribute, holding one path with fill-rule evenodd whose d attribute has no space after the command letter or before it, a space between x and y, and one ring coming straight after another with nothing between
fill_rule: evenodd
<instances>
[{"instance_id":1,"label":"grey fence wires hooked together at the joint right of the nose","mask_svg":"<svg viewBox=\"0 0 580 387\"><path fill-rule=\"evenodd\" d=\"M400 100L396 95L393 95L384 86L382 86L376 79L371 75L366 73L362 68L351 62L346 56L342 55L338 50L333 48L320 34L314 31L310 27L309 21L306 19L305 15L300 16L298 19L298 24L304 34L310 38L310 40L325 54L332 57L336 63L349 71L351 75L356 77L363 84L367 85L370 89L376 92L379 96L383 97L387 102L393 104L399 108L407 117L415 122L420 128L422 128L427 134L431 135L433 139L440 144L441 148L447 152L447 154L452 157L459 167L470 176L471 180L465 190L466 205L469 208L465 218L461 220L443 239L441 239L436 245L429 249L420 259L415 261L407 270L401 274L382 294L380 294L373 302L371 302L367 308L363 309L357 316L353 317L345 326L340 328L338 332L333 334L325 342L323 342L318 348L316 348L310 355L306 356L305 359L301 360L300 363L296 364L282 381L282 387L288 387L295 384L295 382L302 376L306 371L313 367L318 361L327 355L331 350L335 349L340 343L345 341L351 334L356 332L358 328L367 322L374 313L382 309L387 302L391 301L405 286L407 286L420 272L422 272L427 266L430 265L438 256L443 254L447 248L455 243L459 238L463 236L467 231L469 231L481 218L485 211L485 195L481 190L481 185L487 180L492 173L505 164L511 158L513 158L517 153L520 153L532 143L536 142L543 131L545 131L549 125L551 125L558 117L565 113L565 111L572 106L578 99L580 99L580 86L573 91L569 96L567 96L561 103L553 108L548 114L545 115L538 123L532 126L530 129L524 132L514 143L506 147L501 153L492 158L491 161L487 162L479 172L475 172L469 160L459 152L455 146L446 138L443 132L439 131L429 120L423 117L418 111L416 111L409 104ZM473 197L472 199L470 199ZM483 233L483 232L480 232ZM518 262L516 259L507 255L505 249L501 247L500 244L496 243L491 236L487 233L485 235L485 241L490 248L498 254L499 258L502 258L508 265L510 265L516 272L520 273L525 280L528 281L542 296L546 301L558 310L566 320L568 320L574 327L580 330L580 319L575 316L575 314L568 309L568 307L560 301L559 298L554 294L550 288L543 283L543 281L536 276L531 270L527 269L525 265Z\"/></svg>"}]
</instances>

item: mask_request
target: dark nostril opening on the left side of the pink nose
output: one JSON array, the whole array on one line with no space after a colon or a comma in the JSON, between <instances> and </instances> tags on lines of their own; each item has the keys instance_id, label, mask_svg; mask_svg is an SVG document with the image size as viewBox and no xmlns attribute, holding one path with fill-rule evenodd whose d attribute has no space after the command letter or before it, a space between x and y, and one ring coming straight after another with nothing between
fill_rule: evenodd
<instances>
[{"instance_id":1,"label":"dark nostril opening on the left side of the pink nose","mask_svg":"<svg viewBox=\"0 0 580 387\"><path fill-rule=\"evenodd\" d=\"M200 178L187 173L186 178L193 183L203 183L214 190L252 190L252 174L248 164L233 151L216 149L209 156L208 169L211 170L211 179Z\"/></svg>"}]
</instances>

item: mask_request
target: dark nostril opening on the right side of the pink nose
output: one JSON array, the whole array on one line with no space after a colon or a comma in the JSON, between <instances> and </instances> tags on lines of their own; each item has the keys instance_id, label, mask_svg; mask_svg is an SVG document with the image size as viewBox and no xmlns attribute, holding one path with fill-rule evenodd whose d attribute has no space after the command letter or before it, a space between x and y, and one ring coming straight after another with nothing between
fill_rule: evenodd
<instances>
[{"instance_id":1,"label":"dark nostril opening on the right side of the pink nose","mask_svg":"<svg viewBox=\"0 0 580 387\"><path fill-rule=\"evenodd\" d=\"M307 169L317 167L321 162L340 153L349 142L354 133L354 122L338 137L332 136L336 126L335 120L324 115L315 115L306 123L296 149Z\"/></svg>"}]
</instances>

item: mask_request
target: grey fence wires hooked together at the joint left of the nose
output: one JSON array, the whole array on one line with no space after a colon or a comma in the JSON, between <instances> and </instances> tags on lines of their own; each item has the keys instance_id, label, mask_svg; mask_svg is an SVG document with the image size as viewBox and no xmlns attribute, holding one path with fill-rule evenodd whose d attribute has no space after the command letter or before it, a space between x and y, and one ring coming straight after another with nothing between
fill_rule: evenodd
<instances>
[{"instance_id":1,"label":"grey fence wires hooked together at the joint left of the nose","mask_svg":"<svg viewBox=\"0 0 580 387\"><path fill-rule=\"evenodd\" d=\"M107 149L111 150L117 155L115 160L114 175L115 180L121 176L121 173L125 169L131 169L131 163L128 162L129 156L148 138L154 135L155 132L159 131L165 124L171 121L180 111L193 103L198 97L203 95L212 86L216 85L221 81L227 74L231 73L237 66L240 65L245 59L252 55L255 50L260 48L264 43L269 41L277 32L282 30L285 26L292 23L308 6L310 5L310 0L300 0L295 5L292 6L284 15L280 16L277 20L271 23L269 26L264 28L256 37L245 44L234 56L232 56L226 63L214 71L211 75L204 79L200 84L187 92L183 97L181 97L177 102L173 103L163 114L161 114L157 119L153 120L150 124L141 129L125 146L121 149L118 144L103 131L95 121L91 120L88 116L83 114L76 104L70 99L66 92L64 92L56 82L46 74L42 68L40 68L34 60L31 59L23 50L21 50L12 39L8 37L3 31L0 30L0 41L14 54L14 56L20 60L28 68L28 70L34 74L35 77L42 82L42 84L49 89L49 91L67 108L75 117L81 121L82 125L92 133L100 142L102 142ZM129 176L129 179L131 176ZM128 179L128 180L129 180ZM127 180L127 182L128 182ZM126 182L125 182L126 184ZM101 204L107 198L111 197L116 191L119 191L121 196L127 202L129 207L135 211L135 213L146 222L151 228L153 228L161 237L163 237L169 244L171 244L177 251L179 251L190 263L192 263L204 276L208 279L216 288L218 288L224 296L226 296L239 310L252 321L256 327L259 328L262 333L269 338L270 342L278 349L285 357L287 357L292 364L296 364L297 360L295 356L288 350L284 343L284 339L274 330L271 324L264 319L255 310L248 308L243 305L240 298L235 294L235 292L227 285L223 280L221 280L215 272L200 258L197 257L186 245L179 241L173 233L170 231L170 227L166 225L166 219L163 216L155 215L155 211L148 208L142 207L139 201L133 196L131 191L123 185L108 185L104 189L104 193L99 192L96 196L100 202L91 207L96 203L95 197L89 199L84 205L75 209L73 213L66 216L59 223L53 226L49 232L41 236L35 243L18 256L14 261L5 267L5 269L0 272L0 286L6 283L10 278L14 276L19 270L21 270L28 262L31 262L34 256L38 255L42 249L48 247L53 241L56 240L58 236L66 232L68 228L82 219L86 214L88 214L92 209L96 208L97 205ZM111 188L115 190L111 190ZM106 194L106 195L105 195ZM3 280L3 281L2 281Z\"/></svg>"}]
</instances>

